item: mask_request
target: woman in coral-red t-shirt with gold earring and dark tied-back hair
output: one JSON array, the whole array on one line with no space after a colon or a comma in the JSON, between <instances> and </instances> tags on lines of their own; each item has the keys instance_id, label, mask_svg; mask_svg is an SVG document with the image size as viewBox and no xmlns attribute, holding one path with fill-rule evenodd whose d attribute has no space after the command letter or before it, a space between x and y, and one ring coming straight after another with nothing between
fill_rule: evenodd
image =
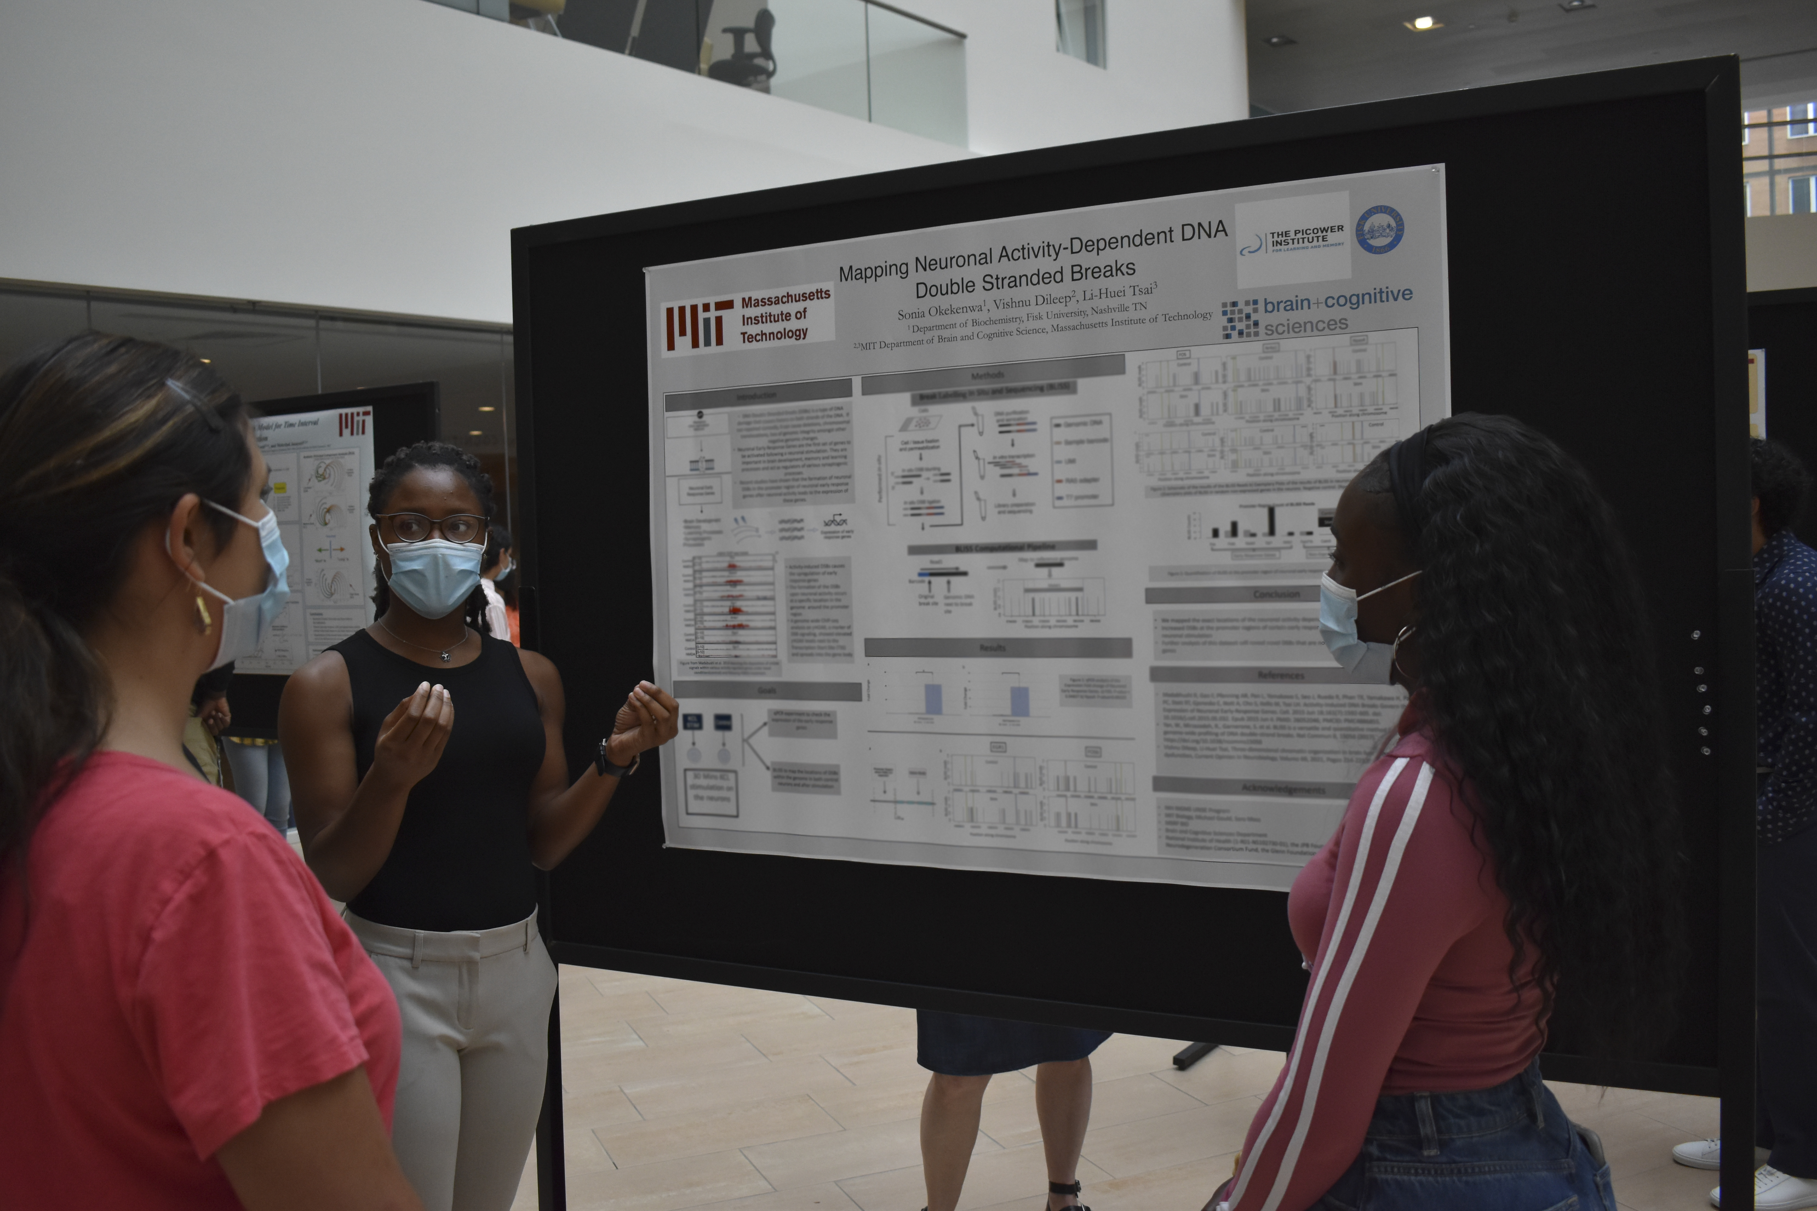
<instances>
[{"instance_id":1,"label":"woman in coral-red t-shirt with gold earring and dark tied-back hair","mask_svg":"<svg viewBox=\"0 0 1817 1211\"><path fill-rule=\"evenodd\" d=\"M85 334L0 376L9 1207L420 1207L391 989L184 761L196 677L285 605L263 485L240 398L174 349Z\"/></svg>"}]
</instances>

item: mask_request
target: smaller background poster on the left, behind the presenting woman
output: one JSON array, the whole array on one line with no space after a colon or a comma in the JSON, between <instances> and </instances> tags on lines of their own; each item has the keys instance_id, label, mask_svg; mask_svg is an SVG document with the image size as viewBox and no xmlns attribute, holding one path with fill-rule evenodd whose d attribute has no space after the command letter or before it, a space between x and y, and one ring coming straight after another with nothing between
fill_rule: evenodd
<instances>
[{"instance_id":1,"label":"smaller background poster on the left, behind the presenting woman","mask_svg":"<svg viewBox=\"0 0 1817 1211\"><path fill-rule=\"evenodd\" d=\"M236 674L294 674L372 623L372 550L365 488L372 481L372 409L331 409L253 421L265 454L265 503L291 552L291 599Z\"/></svg>"}]
</instances>

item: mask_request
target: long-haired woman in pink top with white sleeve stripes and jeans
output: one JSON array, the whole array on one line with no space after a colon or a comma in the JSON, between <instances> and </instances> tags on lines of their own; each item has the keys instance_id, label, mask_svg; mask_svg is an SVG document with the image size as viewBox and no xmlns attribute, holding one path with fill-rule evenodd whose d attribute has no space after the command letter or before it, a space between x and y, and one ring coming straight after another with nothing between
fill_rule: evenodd
<instances>
[{"instance_id":1,"label":"long-haired woman in pink top with white sleeve stripes and jeans","mask_svg":"<svg viewBox=\"0 0 1817 1211\"><path fill-rule=\"evenodd\" d=\"M1683 846L1621 527L1554 441L1461 414L1370 461L1332 539L1325 643L1410 697L1294 881L1305 1006L1212 1204L1615 1211L1537 1057L1557 995L1583 1006L1574 1046L1644 1055L1681 971Z\"/></svg>"}]
</instances>

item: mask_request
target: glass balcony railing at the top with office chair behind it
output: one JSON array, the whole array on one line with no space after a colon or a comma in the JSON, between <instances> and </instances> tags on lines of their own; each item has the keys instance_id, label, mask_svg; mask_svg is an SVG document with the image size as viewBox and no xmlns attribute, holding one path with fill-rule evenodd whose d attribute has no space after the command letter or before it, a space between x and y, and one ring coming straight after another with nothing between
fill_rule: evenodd
<instances>
[{"instance_id":1,"label":"glass balcony railing at the top with office chair behind it","mask_svg":"<svg viewBox=\"0 0 1817 1211\"><path fill-rule=\"evenodd\" d=\"M967 145L965 34L879 0L434 0ZM908 0L912 4L912 0Z\"/></svg>"}]
</instances>

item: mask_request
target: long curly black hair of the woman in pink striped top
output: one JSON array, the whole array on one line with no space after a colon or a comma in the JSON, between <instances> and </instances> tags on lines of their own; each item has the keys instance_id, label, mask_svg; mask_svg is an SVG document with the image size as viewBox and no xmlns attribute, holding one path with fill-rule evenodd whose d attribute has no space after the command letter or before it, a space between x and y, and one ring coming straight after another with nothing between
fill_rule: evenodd
<instances>
[{"instance_id":1,"label":"long curly black hair of the woman in pink striped top","mask_svg":"<svg viewBox=\"0 0 1817 1211\"><path fill-rule=\"evenodd\" d=\"M1386 459L1357 488L1392 492ZM1563 989L1590 1009L1574 1042L1644 1053L1683 968L1684 855L1628 545L1584 468L1514 418L1432 425L1425 468L1412 517L1375 516L1423 570L1417 692L1508 897L1510 980L1537 951L1541 1020Z\"/></svg>"}]
</instances>

